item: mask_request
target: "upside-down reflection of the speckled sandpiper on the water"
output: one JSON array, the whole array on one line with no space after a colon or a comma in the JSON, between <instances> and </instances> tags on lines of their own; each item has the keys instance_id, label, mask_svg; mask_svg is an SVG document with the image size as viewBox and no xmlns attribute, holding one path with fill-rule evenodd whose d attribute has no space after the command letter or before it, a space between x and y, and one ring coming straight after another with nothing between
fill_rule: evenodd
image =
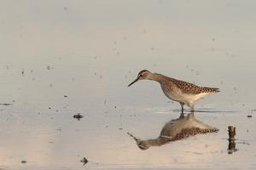
<instances>
[{"instance_id":1,"label":"upside-down reflection of the speckled sandpiper on the water","mask_svg":"<svg viewBox=\"0 0 256 170\"><path fill-rule=\"evenodd\" d=\"M141 150L147 150L150 146L160 146L180 139L186 139L199 133L217 133L218 128L211 127L204 122L195 119L194 113L187 116L181 114L179 118L166 122L157 139L138 139L131 133L127 133L135 139L137 146Z\"/></svg>"}]
</instances>

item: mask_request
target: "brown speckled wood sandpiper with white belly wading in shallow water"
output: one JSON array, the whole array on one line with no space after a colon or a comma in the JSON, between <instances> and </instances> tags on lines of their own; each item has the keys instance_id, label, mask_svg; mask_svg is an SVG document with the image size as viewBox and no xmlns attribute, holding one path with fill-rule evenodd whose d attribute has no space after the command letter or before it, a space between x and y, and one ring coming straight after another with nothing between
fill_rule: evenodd
<instances>
[{"instance_id":1,"label":"brown speckled wood sandpiper with white belly wading in shallow water","mask_svg":"<svg viewBox=\"0 0 256 170\"><path fill-rule=\"evenodd\" d=\"M140 71L137 75L137 79L131 82L131 84L144 79L159 82L164 94L166 94L166 97L179 102L182 108L182 113L183 105L188 105L191 111L194 113L195 102L198 99L201 99L206 95L219 92L218 88L199 87L190 82L183 82L181 80L166 77L158 73L151 73L148 70ZM129 84L128 87L130 87L131 84Z\"/></svg>"}]
</instances>

